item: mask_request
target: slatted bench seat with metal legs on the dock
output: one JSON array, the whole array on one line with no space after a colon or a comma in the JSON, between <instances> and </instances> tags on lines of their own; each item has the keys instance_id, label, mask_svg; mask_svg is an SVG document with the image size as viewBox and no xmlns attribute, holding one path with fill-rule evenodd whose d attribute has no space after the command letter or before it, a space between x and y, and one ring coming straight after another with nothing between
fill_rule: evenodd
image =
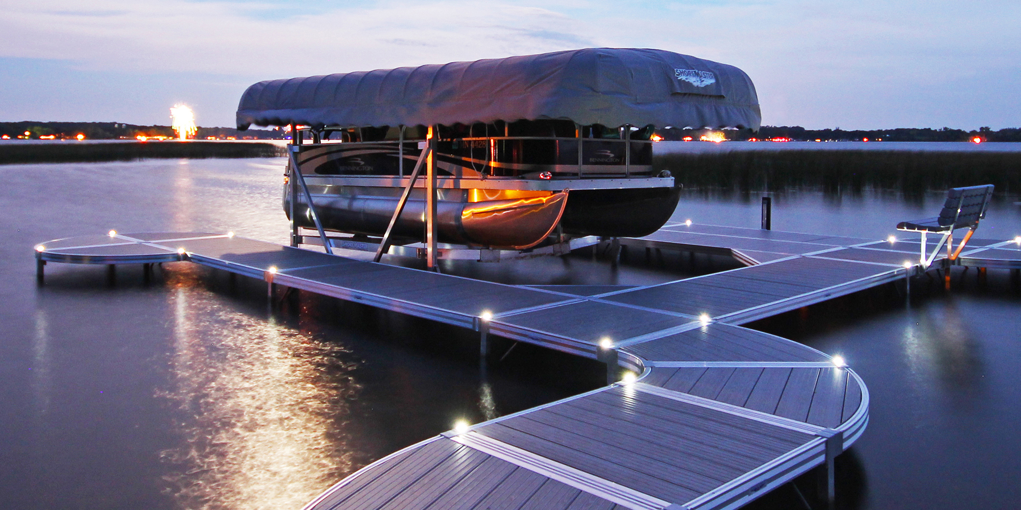
<instances>
[{"instance_id":1,"label":"slatted bench seat with metal legs on the dock","mask_svg":"<svg viewBox=\"0 0 1021 510\"><path fill-rule=\"evenodd\" d=\"M919 255L919 263L922 267L929 267L936 258L936 253L946 243L946 258L954 260L961 254L971 235L978 228L978 222L985 217L985 210L989 206L989 199L992 197L992 185L970 186L967 188L952 188L946 192L946 200L939 215L925 219L914 219L897 223L896 228L905 232L918 232L922 234L922 246ZM964 240L958 249L952 253L954 245L954 231L958 228L969 228ZM926 234L942 234L942 239L936 244L932 253L926 256Z\"/></svg>"}]
</instances>

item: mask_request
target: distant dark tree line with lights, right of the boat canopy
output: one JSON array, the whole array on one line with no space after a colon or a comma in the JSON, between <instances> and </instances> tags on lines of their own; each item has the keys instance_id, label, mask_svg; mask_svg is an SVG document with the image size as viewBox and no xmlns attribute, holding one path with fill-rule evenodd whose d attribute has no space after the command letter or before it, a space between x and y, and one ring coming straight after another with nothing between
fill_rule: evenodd
<instances>
[{"instance_id":1,"label":"distant dark tree line with lights, right of the boat canopy","mask_svg":"<svg viewBox=\"0 0 1021 510\"><path fill-rule=\"evenodd\" d=\"M657 133L666 140L684 140L690 137L692 140L699 140L702 136L708 136L713 130L662 130ZM719 132L717 132L719 133ZM951 128L896 128L893 130L852 130L845 131L839 128L832 130L806 130L800 125L763 125L759 132L751 130L724 130L727 140L773 140L789 139L798 142L812 142L819 140L822 142L861 142L868 139L870 142L970 142L975 137L983 142L1021 142L1021 128L1005 128L992 131L988 126L978 130L965 131Z\"/></svg>"}]
</instances>

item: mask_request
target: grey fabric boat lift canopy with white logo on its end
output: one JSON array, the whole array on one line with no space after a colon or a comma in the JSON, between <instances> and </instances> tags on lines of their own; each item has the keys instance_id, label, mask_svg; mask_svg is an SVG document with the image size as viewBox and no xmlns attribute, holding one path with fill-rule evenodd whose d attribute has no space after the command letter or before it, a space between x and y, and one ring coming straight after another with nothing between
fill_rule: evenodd
<instances>
[{"instance_id":1,"label":"grey fabric boat lift canopy with white logo on its end","mask_svg":"<svg viewBox=\"0 0 1021 510\"><path fill-rule=\"evenodd\" d=\"M568 119L582 125L750 128L762 114L741 69L663 50L590 48L252 85L249 125L364 128Z\"/></svg>"}]
</instances>

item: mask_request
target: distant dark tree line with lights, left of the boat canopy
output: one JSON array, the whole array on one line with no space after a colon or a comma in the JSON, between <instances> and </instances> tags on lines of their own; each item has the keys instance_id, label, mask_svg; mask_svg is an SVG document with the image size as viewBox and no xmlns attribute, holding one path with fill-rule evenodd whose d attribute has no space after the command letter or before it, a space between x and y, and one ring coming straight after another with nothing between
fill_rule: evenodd
<instances>
[{"instance_id":1,"label":"distant dark tree line with lights, left of the boat canopy","mask_svg":"<svg viewBox=\"0 0 1021 510\"><path fill-rule=\"evenodd\" d=\"M136 137L174 137L169 125L138 125L124 122L42 122L22 120L20 122L0 122L0 137L10 139L28 137L38 140L39 137L55 137L61 140L74 140L78 135L84 135L87 140L118 140L135 139ZM215 137L217 139L235 138L237 140L274 140L282 139L283 132L270 130L238 131L233 128L199 128L196 139Z\"/></svg>"}]
</instances>

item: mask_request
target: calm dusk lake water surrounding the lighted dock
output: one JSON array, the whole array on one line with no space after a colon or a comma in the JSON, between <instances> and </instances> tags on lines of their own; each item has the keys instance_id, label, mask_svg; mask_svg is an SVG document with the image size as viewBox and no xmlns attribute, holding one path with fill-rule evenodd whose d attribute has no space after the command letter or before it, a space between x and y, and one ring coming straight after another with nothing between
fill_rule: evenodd
<instances>
[{"instance_id":1,"label":"calm dusk lake water surrounding the lighted dock","mask_svg":"<svg viewBox=\"0 0 1021 510\"><path fill-rule=\"evenodd\" d=\"M721 144L723 145L723 144ZM778 144L779 145L779 144ZM470 332L301 295L270 313L264 287L188 263L145 285L138 267L50 264L32 248L115 228L234 231L286 242L281 159L0 166L0 508L300 508L414 442L600 385L595 362L519 346L480 368ZM978 184L978 183L976 183ZM758 226L759 193L686 190L676 219ZM775 193L775 230L884 239L932 215L939 193ZM980 238L1021 235L998 197ZM517 284L645 284L736 266L635 252L619 269L565 259L458 263ZM960 277L960 274L957 276ZM871 423L838 459L847 508L1013 508L1021 489L1021 296L1006 272L945 294L916 280L755 324L865 378ZM495 349L506 349L499 344ZM797 484L812 497L814 479ZM756 508L800 508L791 486Z\"/></svg>"}]
</instances>

